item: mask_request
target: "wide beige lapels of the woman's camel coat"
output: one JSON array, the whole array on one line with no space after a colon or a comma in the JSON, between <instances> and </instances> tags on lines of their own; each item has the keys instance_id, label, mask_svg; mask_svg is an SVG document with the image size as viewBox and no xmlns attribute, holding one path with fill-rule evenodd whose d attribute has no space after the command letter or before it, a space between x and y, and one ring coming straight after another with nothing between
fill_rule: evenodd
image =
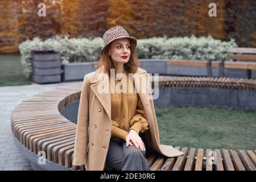
<instances>
[{"instance_id":1,"label":"wide beige lapels of the woman's camel coat","mask_svg":"<svg viewBox=\"0 0 256 182\"><path fill-rule=\"evenodd\" d=\"M106 69L104 68L104 66L98 68L96 70L96 72L93 74L93 76L90 79L90 88L92 90L92 92L96 95L96 97L98 98L98 100L100 101L102 107L104 107L106 113L108 114L109 120L111 121L111 98L110 98L110 88L108 88L109 92L108 93L101 93L98 92L97 86L98 85L108 85L109 84L109 77L106 76L102 79L99 79L99 75L101 73L105 73L106 75L108 75L108 71L106 71ZM144 76L146 76L147 79L147 84L144 86L149 86L148 84L150 84L149 81L149 76L147 74L147 72L142 69L142 68L138 68L137 72L135 74L133 74L133 82L134 82L134 86L135 89L138 90L139 88L139 84L141 83L139 80L140 78L143 78ZM150 89L151 91L151 89ZM139 97L141 98L142 104L144 105L150 105L150 100L148 99L150 96L147 93L142 93L142 92L138 92Z\"/></svg>"}]
</instances>

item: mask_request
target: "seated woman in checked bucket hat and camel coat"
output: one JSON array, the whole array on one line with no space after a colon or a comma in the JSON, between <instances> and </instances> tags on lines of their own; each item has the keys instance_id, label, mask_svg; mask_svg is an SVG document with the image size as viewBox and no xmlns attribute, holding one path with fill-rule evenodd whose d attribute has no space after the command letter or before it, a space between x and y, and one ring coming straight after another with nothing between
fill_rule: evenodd
<instances>
[{"instance_id":1,"label":"seated woman in checked bucket hat and camel coat","mask_svg":"<svg viewBox=\"0 0 256 182\"><path fill-rule=\"evenodd\" d=\"M183 155L160 144L149 76L135 61L137 40L121 26L103 39L100 68L85 75L82 85L73 166L148 170L148 149Z\"/></svg>"}]
</instances>

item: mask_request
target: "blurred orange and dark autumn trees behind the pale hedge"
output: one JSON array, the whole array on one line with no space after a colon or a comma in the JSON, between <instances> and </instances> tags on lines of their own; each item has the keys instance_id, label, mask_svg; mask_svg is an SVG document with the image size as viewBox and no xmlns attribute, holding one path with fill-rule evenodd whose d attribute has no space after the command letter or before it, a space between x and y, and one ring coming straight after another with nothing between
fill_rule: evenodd
<instances>
[{"instance_id":1,"label":"blurred orange and dark autumn trees behind the pale hedge","mask_svg":"<svg viewBox=\"0 0 256 182\"><path fill-rule=\"evenodd\" d=\"M38 4L46 3L46 17ZM217 17L209 17L209 3ZM36 36L94 37L121 25L136 38L207 36L233 38L240 47L256 47L254 0L5 0L0 1L0 52Z\"/></svg>"}]
</instances>

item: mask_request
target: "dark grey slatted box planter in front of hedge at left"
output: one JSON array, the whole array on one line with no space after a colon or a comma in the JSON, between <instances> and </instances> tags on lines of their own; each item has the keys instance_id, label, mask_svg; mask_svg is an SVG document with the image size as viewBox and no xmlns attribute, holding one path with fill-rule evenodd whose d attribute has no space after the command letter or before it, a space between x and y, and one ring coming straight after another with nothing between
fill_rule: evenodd
<instances>
[{"instance_id":1,"label":"dark grey slatted box planter in front of hedge at left","mask_svg":"<svg viewBox=\"0 0 256 182\"><path fill-rule=\"evenodd\" d=\"M32 51L32 79L38 84L61 82L60 55L54 51Z\"/></svg>"}]
</instances>

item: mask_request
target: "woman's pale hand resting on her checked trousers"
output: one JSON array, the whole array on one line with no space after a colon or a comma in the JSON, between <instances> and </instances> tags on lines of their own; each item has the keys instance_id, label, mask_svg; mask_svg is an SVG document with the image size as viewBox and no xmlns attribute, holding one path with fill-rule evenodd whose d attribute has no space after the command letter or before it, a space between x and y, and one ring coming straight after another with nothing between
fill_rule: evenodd
<instances>
[{"instance_id":1,"label":"woman's pale hand resting on her checked trousers","mask_svg":"<svg viewBox=\"0 0 256 182\"><path fill-rule=\"evenodd\" d=\"M135 130L130 130L129 133L125 137L126 140L126 147L129 145L133 145L137 148L141 148L142 151L146 151L144 148L143 141L141 137L139 137L138 133Z\"/></svg>"}]
</instances>

